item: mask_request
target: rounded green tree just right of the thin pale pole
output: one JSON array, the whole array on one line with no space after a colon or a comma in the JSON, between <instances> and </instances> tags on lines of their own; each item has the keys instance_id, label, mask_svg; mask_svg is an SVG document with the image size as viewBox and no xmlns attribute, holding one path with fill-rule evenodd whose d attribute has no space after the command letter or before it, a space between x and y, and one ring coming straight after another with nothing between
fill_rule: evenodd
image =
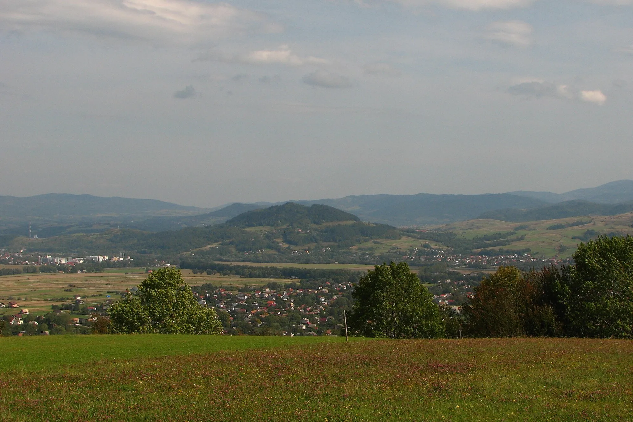
<instances>
[{"instance_id":1,"label":"rounded green tree just right of the thin pale pole","mask_svg":"<svg viewBox=\"0 0 633 422\"><path fill-rule=\"evenodd\" d=\"M407 263L375 266L360 279L353 293L350 323L366 337L442 337L439 310Z\"/></svg>"}]
</instances>

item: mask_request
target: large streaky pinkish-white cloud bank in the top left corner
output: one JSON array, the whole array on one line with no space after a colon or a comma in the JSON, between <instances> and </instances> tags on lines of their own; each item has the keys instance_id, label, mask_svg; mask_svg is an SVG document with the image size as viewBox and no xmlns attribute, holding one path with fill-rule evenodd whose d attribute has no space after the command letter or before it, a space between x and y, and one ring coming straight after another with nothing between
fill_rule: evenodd
<instances>
[{"instance_id":1,"label":"large streaky pinkish-white cloud bank in the top left corner","mask_svg":"<svg viewBox=\"0 0 633 422\"><path fill-rule=\"evenodd\" d=\"M8 30L53 30L152 42L204 42L244 32L279 32L261 13L192 0L2 0Z\"/></svg>"}]
</instances>

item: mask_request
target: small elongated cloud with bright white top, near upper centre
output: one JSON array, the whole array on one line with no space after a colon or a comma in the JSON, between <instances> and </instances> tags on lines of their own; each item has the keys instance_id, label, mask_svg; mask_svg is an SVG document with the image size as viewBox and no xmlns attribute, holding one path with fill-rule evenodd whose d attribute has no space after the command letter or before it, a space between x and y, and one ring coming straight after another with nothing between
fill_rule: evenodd
<instances>
[{"instance_id":1,"label":"small elongated cloud with bright white top, near upper centre","mask_svg":"<svg viewBox=\"0 0 633 422\"><path fill-rule=\"evenodd\" d=\"M244 63L247 65L277 64L288 66L327 65L329 63L328 60L318 57L299 57L297 54L292 53L288 46L280 46L276 50L258 50L246 54L233 55L215 51L204 54L194 61L204 60L223 61L224 63Z\"/></svg>"}]
</instances>

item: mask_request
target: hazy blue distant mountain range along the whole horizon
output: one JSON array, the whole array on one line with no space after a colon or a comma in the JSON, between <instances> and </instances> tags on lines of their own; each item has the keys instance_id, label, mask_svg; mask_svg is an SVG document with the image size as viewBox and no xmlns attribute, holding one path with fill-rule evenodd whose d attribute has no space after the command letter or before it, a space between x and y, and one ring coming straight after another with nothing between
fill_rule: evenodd
<instances>
[{"instance_id":1,"label":"hazy blue distant mountain range along the whole horizon","mask_svg":"<svg viewBox=\"0 0 633 422\"><path fill-rule=\"evenodd\" d=\"M362 221L397 227L423 226L473 218L530 221L563 216L610 215L628 212L633 201L633 180L618 180L594 188L563 194L518 190L505 194L483 195L351 195L339 199L291 201L310 206L332 206L358 216ZM96 225L80 230L108 227L135 228L150 232L178 230L182 227L215 225L230 218L285 202L236 202L219 209L181 206L154 199L97 197L93 195L45 194L32 197L0 196L0 230L24 231L31 219L53 233L79 230L79 222ZM618 206L618 204L620 204ZM624 211L622 211L624 210ZM9 224L10 223L10 224ZM73 228L61 224L73 224ZM44 227L48 225L48 227ZM86 226L87 227L87 226Z\"/></svg>"}]
</instances>

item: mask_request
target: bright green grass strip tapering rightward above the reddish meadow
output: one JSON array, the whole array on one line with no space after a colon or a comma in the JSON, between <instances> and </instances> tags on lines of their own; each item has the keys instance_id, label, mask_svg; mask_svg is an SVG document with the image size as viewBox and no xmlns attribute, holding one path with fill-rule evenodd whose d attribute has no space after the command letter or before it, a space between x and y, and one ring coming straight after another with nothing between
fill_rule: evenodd
<instances>
[{"instance_id":1,"label":"bright green grass strip tapering rightward above the reddish meadow","mask_svg":"<svg viewBox=\"0 0 633 422\"><path fill-rule=\"evenodd\" d=\"M341 341L341 338L159 334L0 337L0 372L58 372L112 359L266 349L323 341L335 342Z\"/></svg>"}]
</instances>

